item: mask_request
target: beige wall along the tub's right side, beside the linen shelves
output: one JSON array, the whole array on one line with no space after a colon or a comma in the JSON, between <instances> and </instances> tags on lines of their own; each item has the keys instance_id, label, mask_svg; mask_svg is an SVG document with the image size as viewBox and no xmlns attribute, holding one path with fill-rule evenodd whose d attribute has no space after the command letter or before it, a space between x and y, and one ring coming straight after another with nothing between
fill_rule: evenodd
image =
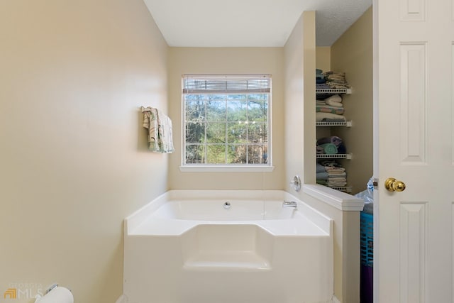
<instances>
[{"instance_id":1,"label":"beige wall along the tub's right side, beside the linen shelves","mask_svg":"<svg viewBox=\"0 0 454 303\"><path fill-rule=\"evenodd\" d=\"M306 11L301 15L284 50L285 176L289 180L293 175L300 175L304 183L315 184L315 12ZM307 151L304 149L304 143ZM306 161L303 160L304 154ZM348 302L345 301L346 282L357 281L354 278L343 280L343 276L348 272L344 265L346 258L343 256L343 212L309 197L303 190L294 192L289 185L286 190L335 221L334 294L341 302Z\"/></svg>"}]
</instances>

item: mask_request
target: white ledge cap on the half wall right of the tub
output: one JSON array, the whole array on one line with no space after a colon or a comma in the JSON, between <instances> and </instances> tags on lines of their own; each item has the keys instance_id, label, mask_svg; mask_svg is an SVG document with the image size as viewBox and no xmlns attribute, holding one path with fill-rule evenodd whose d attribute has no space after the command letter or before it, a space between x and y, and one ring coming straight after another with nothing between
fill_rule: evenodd
<instances>
[{"instance_id":1,"label":"white ledge cap on the half wall right of the tub","mask_svg":"<svg viewBox=\"0 0 454 303\"><path fill-rule=\"evenodd\" d=\"M320 184L303 184L303 192L341 211L362 211L364 200Z\"/></svg>"}]
</instances>

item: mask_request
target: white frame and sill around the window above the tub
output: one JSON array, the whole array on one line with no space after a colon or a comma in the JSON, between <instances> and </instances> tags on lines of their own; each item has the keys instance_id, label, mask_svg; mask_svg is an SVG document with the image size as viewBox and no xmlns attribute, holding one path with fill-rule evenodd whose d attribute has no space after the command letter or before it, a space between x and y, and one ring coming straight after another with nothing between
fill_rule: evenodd
<instances>
[{"instance_id":1,"label":"white frame and sill around the window above the tub","mask_svg":"<svg viewBox=\"0 0 454 303\"><path fill-rule=\"evenodd\" d=\"M224 163L224 164L208 164L208 163L186 163L186 101L184 92L184 81L189 77L201 78L218 78L224 77L228 79L243 78L243 77L266 77L270 81L269 92L250 92L250 94L267 94L267 163L262 164L246 164L246 163ZM194 94L218 94L218 95L235 95L238 92L196 92ZM246 94L242 92L241 94ZM272 165L272 77L271 75L182 75L182 158L181 166L179 167L182 172L272 172L274 166ZM228 143L226 143L228 145Z\"/></svg>"}]
</instances>

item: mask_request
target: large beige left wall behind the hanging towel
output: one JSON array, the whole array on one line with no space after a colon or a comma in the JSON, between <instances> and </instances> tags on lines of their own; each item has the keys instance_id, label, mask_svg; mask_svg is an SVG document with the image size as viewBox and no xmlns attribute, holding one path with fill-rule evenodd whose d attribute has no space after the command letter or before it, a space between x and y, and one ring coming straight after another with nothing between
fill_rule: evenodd
<instances>
[{"instance_id":1,"label":"large beige left wall behind the hanging towel","mask_svg":"<svg viewBox=\"0 0 454 303\"><path fill-rule=\"evenodd\" d=\"M123 218L167 189L138 111L167 111L165 40L142 0L1 1L0 37L0 294L115 302Z\"/></svg>"}]
</instances>

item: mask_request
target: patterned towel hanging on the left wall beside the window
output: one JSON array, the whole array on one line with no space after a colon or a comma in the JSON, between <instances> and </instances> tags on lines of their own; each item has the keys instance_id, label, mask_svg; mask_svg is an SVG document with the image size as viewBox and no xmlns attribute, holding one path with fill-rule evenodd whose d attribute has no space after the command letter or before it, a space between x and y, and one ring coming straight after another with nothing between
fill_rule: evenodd
<instances>
[{"instance_id":1,"label":"patterned towel hanging on the left wall beside the window","mask_svg":"<svg viewBox=\"0 0 454 303\"><path fill-rule=\"evenodd\" d=\"M173 153L172 120L153 107L141 107L144 128L148 129L148 149L155 153Z\"/></svg>"}]
</instances>

